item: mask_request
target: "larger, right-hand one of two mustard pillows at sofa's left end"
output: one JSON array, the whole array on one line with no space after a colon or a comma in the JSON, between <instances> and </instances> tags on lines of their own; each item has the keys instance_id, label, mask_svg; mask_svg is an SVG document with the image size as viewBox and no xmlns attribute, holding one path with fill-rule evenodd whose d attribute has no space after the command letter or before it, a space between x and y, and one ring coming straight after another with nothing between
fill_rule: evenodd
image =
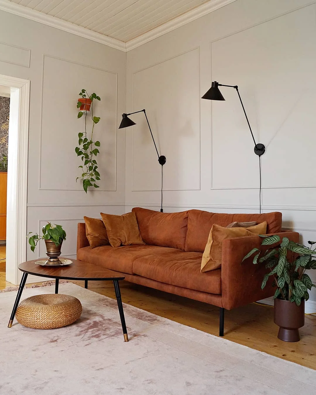
<instances>
[{"instance_id":1,"label":"larger, right-hand one of two mustard pillows at sofa's left end","mask_svg":"<svg viewBox=\"0 0 316 395\"><path fill-rule=\"evenodd\" d=\"M101 213L112 247L145 244L139 232L135 213L112 215Z\"/></svg>"}]
</instances>

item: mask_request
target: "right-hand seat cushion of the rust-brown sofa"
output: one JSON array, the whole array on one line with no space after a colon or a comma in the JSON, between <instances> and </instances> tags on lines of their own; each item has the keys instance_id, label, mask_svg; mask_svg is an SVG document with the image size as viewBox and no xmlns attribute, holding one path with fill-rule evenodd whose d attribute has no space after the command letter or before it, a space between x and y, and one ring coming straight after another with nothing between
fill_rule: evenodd
<instances>
[{"instance_id":1,"label":"right-hand seat cushion of the rust-brown sofa","mask_svg":"<svg viewBox=\"0 0 316 395\"><path fill-rule=\"evenodd\" d=\"M201 260L199 252L143 256L134 260L133 272L166 284L220 295L221 270L200 273Z\"/></svg>"}]
</instances>

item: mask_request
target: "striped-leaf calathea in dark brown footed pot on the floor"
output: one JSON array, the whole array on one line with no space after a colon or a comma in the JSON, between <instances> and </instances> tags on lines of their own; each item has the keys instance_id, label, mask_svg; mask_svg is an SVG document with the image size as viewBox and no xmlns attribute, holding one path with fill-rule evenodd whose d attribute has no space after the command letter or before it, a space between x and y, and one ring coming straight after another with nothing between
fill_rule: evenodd
<instances>
[{"instance_id":1,"label":"striped-leaf calathea in dark brown footed pot on the floor","mask_svg":"<svg viewBox=\"0 0 316 395\"><path fill-rule=\"evenodd\" d=\"M274 322L280 327L278 338L287 342L299 341L298 328L305 322L305 300L308 300L308 290L315 287L308 269L316 269L314 255L311 249L315 241L308 241L310 248L290 241L287 237L282 240L278 235L260 235L261 245L268 246L262 250L253 248L246 254L243 261L254 255L253 263L265 264L269 272L263 277L261 289L269 278L273 277L272 285L276 287L274 299ZM271 247L270 247L271 246Z\"/></svg>"}]
</instances>

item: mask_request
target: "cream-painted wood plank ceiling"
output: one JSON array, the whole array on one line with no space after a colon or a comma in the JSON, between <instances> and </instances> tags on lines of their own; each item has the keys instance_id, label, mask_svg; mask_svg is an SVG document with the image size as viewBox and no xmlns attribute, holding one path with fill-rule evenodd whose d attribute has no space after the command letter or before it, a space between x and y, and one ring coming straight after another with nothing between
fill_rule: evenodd
<instances>
[{"instance_id":1,"label":"cream-painted wood plank ceiling","mask_svg":"<svg viewBox=\"0 0 316 395\"><path fill-rule=\"evenodd\" d=\"M210 0L10 0L127 42Z\"/></svg>"}]
</instances>

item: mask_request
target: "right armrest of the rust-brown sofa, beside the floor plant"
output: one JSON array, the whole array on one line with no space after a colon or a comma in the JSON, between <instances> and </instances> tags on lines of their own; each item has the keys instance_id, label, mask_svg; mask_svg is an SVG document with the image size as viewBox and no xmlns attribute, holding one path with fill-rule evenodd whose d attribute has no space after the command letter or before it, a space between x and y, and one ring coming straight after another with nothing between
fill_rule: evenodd
<instances>
[{"instance_id":1,"label":"right armrest of the rust-brown sofa, beside the floor plant","mask_svg":"<svg viewBox=\"0 0 316 395\"><path fill-rule=\"evenodd\" d=\"M273 233L281 238L286 236L290 240L299 242L299 233L293 231L281 231ZM245 260L243 257L252 248L267 249L271 246L262 246L262 238L259 236L234 237L223 241L222 249L222 304L231 310L234 307L246 305L260 299L273 296L275 288L272 287L273 276L263 290L261 283L263 276L268 272L263 262L254 265L253 256Z\"/></svg>"}]
</instances>

